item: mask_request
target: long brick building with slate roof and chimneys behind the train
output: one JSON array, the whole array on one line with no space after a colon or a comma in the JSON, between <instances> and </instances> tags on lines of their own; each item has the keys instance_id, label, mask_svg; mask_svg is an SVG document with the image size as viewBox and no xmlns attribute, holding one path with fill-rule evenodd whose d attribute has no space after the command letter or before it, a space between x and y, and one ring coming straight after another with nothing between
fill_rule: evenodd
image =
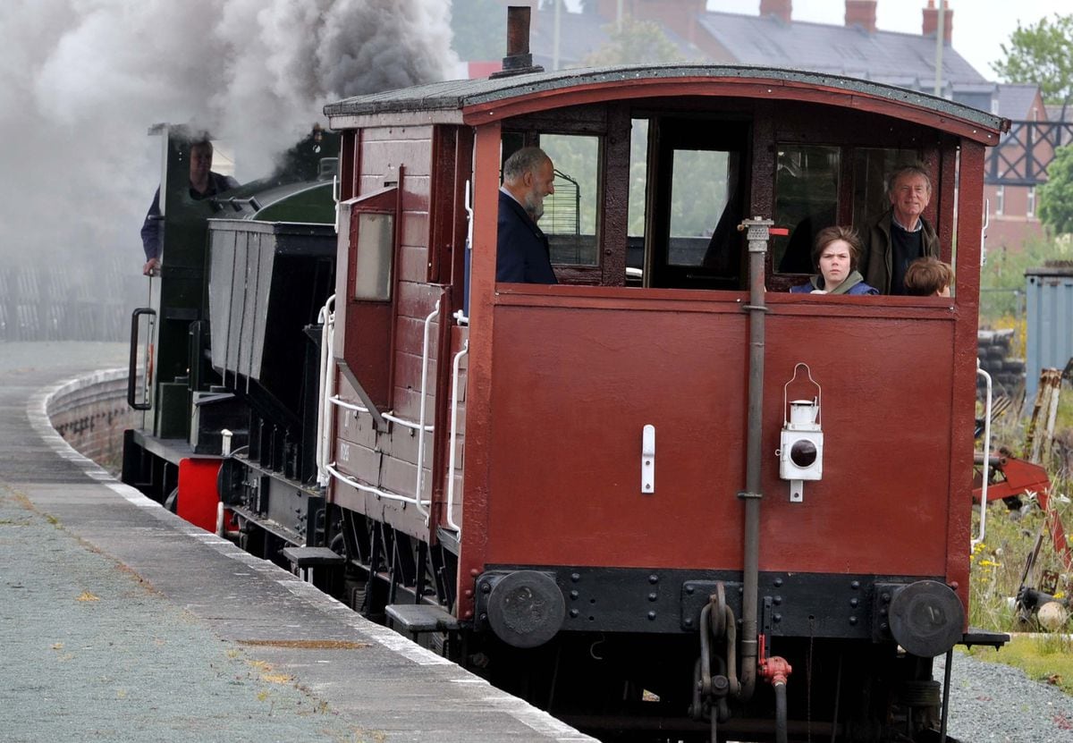
<instances>
[{"instance_id":1,"label":"long brick building with slate roof and chimneys behind the train","mask_svg":"<svg viewBox=\"0 0 1073 743\"><path fill-rule=\"evenodd\" d=\"M843 0L841 26L794 19L793 0L758 0L756 15L709 11L705 0L585 0L580 12L540 0L499 1L533 9L531 52L533 62L545 69L584 64L608 42L621 14L657 23L682 61L809 70L928 93L936 88L936 0L921 8L920 33L877 28L878 0ZM1035 216L1037 187L1046 180L1053 143L1061 134L1035 86L988 81L957 53L951 4L947 0L942 23L940 94L1014 122L1001 146L988 151L985 196L988 246L1016 249L1043 232ZM962 12L972 12L971 4L965 3Z\"/></svg>"}]
</instances>

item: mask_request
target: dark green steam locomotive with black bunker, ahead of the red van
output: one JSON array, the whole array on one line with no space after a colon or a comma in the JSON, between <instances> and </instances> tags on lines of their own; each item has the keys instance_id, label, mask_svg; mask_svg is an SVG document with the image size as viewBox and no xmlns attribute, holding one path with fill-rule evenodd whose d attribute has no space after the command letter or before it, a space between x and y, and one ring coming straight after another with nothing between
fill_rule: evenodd
<instances>
[{"instance_id":1,"label":"dark green steam locomotive with black bunker, ahead of the red van","mask_svg":"<svg viewBox=\"0 0 1073 743\"><path fill-rule=\"evenodd\" d=\"M132 318L128 397L144 414L124 432L122 479L221 533L246 523L235 512L262 490L276 491L275 530L304 538L315 479L315 414L305 410L317 398L320 340L306 327L334 282L338 139L315 128L273 175L197 200L189 161L203 134L166 125L150 134L163 151L161 264ZM221 477L231 450L249 467Z\"/></svg>"}]
</instances>

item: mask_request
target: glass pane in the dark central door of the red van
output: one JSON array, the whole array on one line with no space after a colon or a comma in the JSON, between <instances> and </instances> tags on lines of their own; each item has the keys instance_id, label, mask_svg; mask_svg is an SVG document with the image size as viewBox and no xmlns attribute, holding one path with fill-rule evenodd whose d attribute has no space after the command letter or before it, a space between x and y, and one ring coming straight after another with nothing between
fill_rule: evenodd
<instances>
[{"instance_id":1,"label":"glass pane in the dark central door of the red van","mask_svg":"<svg viewBox=\"0 0 1073 743\"><path fill-rule=\"evenodd\" d=\"M726 207L730 158L730 152L716 150L674 150L668 264L704 264L711 233Z\"/></svg>"}]
</instances>

